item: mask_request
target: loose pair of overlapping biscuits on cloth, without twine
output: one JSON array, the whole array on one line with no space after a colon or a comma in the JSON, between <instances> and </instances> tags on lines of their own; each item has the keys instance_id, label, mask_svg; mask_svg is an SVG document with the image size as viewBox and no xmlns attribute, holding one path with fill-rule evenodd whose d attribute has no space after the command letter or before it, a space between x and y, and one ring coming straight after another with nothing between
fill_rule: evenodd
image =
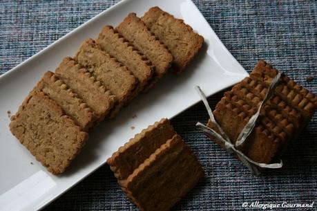
<instances>
[{"instance_id":1,"label":"loose pair of overlapping biscuits on cloth, without twine","mask_svg":"<svg viewBox=\"0 0 317 211\"><path fill-rule=\"evenodd\" d=\"M204 175L169 120L144 129L107 160L122 190L140 210L169 210Z\"/></svg>"}]
</instances>

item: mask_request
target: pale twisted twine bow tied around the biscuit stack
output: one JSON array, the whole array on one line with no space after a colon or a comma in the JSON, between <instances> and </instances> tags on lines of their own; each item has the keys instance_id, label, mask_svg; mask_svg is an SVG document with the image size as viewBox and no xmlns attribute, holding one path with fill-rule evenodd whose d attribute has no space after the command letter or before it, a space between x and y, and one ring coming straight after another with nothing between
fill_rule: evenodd
<instances>
[{"instance_id":1,"label":"pale twisted twine bow tied around the biscuit stack","mask_svg":"<svg viewBox=\"0 0 317 211\"><path fill-rule=\"evenodd\" d=\"M224 148L230 152L231 154L236 153L238 155L238 158L246 165L249 170L255 174L259 175L260 171L258 170L258 167L267 168L267 169L277 169L282 167L283 163L282 160L280 160L280 163L258 163L254 160L251 160L248 158L243 152L238 149L240 145L244 143L244 141L248 138L248 136L253 131L253 128L256 126L256 120L258 119L258 116L260 116L260 110L262 108L262 105L271 98L271 95L273 95L274 90L276 89L276 86L278 84L278 81L280 80L280 72L276 75L276 77L273 78L271 84L269 85L269 89L267 90L267 93L265 94L265 98L260 102L260 105L258 107L258 111L251 116L249 119L249 122L247 122L247 125L244 126L242 131L240 132L236 143L233 144L233 142L230 140L229 136L224 132L224 130L218 125L218 122L215 120L215 117L213 116L213 112L211 111L211 108L209 107L208 101L206 100L206 95L202 92L200 89L200 86L195 86L195 89L198 91L198 94L200 95L200 98L202 98L202 102L204 102L204 106L206 107L206 110L209 114L210 120L215 125L215 127L218 129L219 133L215 130L207 127L206 125L203 125L200 122L197 122L196 126L200 127L202 131L204 131L206 134L210 134L213 136L216 140L218 140L220 143L224 144Z\"/></svg>"}]
</instances>

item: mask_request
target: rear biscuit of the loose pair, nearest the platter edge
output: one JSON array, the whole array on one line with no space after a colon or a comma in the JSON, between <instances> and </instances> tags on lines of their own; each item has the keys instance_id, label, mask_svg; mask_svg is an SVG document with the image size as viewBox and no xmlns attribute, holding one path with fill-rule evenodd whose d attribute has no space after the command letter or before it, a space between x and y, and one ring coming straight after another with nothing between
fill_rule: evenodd
<instances>
[{"instance_id":1,"label":"rear biscuit of the loose pair, nearest the platter edge","mask_svg":"<svg viewBox=\"0 0 317 211\"><path fill-rule=\"evenodd\" d=\"M125 179L173 135L175 135L173 127L169 120L164 118L131 138L107 160L107 163L115 172L115 177Z\"/></svg>"}]
</instances>

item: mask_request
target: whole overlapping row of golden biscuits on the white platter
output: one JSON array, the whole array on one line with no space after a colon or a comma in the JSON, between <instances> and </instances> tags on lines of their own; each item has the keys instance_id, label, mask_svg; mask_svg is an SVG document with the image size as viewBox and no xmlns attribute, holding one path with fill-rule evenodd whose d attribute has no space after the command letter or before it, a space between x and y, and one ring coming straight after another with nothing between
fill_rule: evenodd
<instances>
[{"instance_id":1,"label":"whole overlapping row of golden biscuits on the white platter","mask_svg":"<svg viewBox=\"0 0 317 211\"><path fill-rule=\"evenodd\" d=\"M37 83L10 130L52 174L64 172L88 131L150 89L169 69L181 73L204 39L160 8L105 26Z\"/></svg>"}]
</instances>

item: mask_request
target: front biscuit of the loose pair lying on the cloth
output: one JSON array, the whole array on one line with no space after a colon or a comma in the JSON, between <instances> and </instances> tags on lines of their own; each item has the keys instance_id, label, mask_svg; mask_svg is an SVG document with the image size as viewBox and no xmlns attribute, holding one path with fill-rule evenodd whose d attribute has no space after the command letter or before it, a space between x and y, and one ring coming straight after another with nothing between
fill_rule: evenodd
<instances>
[{"instance_id":1,"label":"front biscuit of the loose pair lying on the cloth","mask_svg":"<svg viewBox=\"0 0 317 211\"><path fill-rule=\"evenodd\" d=\"M199 161L175 135L119 184L140 210L169 210L202 176Z\"/></svg>"}]
</instances>

